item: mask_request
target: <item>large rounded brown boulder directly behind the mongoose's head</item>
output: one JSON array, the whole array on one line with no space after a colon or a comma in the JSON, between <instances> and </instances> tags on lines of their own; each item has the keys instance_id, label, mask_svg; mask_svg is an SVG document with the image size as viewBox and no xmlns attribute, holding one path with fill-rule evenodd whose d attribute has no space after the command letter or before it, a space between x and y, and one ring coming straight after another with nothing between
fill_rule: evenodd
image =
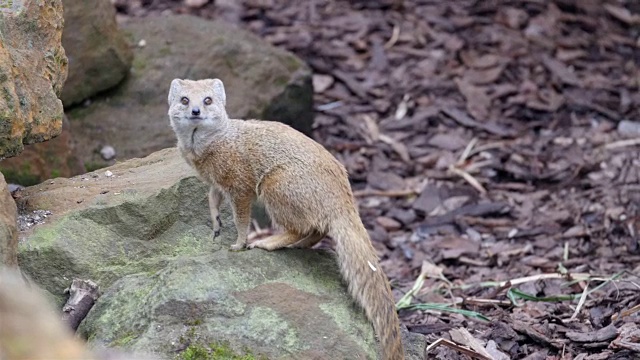
<instances>
[{"instance_id":1,"label":"large rounded brown boulder directly behind the mongoose's head","mask_svg":"<svg viewBox=\"0 0 640 360\"><path fill-rule=\"evenodd\" d=\"M175 146L167 116L174 78L221 78L230 116L279 120L310 133L311 72L291 53L229 24L188 15L130 18L120 28L132 43L144 43L134 49L129 76L67 112L88 169L115 161L95 151L103 145L113 146L119 161Z\"/></svg>"}]
</instances>

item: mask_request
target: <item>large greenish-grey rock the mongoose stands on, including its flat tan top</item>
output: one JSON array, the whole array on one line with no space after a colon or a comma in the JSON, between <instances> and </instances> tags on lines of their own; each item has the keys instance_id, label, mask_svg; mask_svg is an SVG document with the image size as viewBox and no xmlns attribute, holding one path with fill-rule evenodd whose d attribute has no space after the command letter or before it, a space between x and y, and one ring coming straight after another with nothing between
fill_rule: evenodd
<instances>
[{"instance_id":1,"label":"large greenish-grey rock the mongoose stands on, including its flat tan top","mask_svg":"<svg viewBox=\"0 0 640 360\"><path fill-rule=\"evenodd\" d=\"M22 211L52 214L21 231L20 267L58 304L74 278L100 285L103 296L79 329L93 346L161 358L376 358L372 326L332 254L230 252L228 204L213 240L206 192L175 148L29 187ZM423 348L420 341L407 346Z\"/></svg>"}]
</instances>

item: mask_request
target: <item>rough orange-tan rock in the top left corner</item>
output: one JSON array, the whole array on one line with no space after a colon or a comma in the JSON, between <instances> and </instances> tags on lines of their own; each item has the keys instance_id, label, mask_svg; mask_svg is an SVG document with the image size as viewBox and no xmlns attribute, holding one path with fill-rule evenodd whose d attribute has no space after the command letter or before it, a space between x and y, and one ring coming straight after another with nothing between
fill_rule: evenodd
<instances>
[{"instance_id":1,"label":"rough orange-tan rock in the top left corner","mask_svg":"<svg viewBox=\"0 0 640 360\"><path fill-rule=\"evenodd\" d=\"M0 159L62 130L67 77L62 2L13 1L0 9Z\"/></svg>"}]
</instances>

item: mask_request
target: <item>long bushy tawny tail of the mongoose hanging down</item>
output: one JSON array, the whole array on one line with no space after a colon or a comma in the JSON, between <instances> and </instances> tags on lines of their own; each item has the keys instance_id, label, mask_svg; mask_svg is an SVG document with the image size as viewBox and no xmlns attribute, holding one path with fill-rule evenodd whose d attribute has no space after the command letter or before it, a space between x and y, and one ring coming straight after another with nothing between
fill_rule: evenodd
<instances>
[{"instance_id":1,"label":"long bushy tawny tail of the mongoose hanging down","mask_svg":"<svg viewBox=\"0 0 640 360\"><path fill-rule=\"evenodd\" d=\"M387 277L358 214L342 215L329 228L336 242L340 271L351 296L373 323L384 360L404 360L400 322Z\"/></svg>"}]
</instances>

